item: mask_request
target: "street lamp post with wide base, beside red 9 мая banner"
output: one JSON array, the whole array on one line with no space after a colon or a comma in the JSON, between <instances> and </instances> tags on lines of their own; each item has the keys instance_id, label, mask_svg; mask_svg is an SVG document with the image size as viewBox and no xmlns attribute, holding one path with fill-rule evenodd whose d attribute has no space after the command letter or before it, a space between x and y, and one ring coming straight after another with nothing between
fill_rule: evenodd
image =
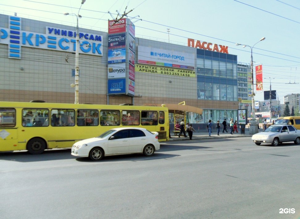
<instances>
[{"instance_id":1,"label":"street lamp post with wide base, beside red 9 \u043c\u0430\u044f banner","mask_svg":"<svg viewBox=\"0 0 300 219\"><path fill-rule=\"evenodd\" d=\"M265 37L261 38L260 41L266 39ZM260 41L258 41L257 43L259 43ZM253 135L258 133L258 127L257 127L257 121L255 119L255 103L254 103L254 84L253 84L253 56L252 56L252 49L253 47L257 44L255 43L252 47L249 45L243 45L243 47L250 47L251 49L251 98L252 98L252 118L250 120L250 128L249 128L249 134ZM240 46L242 44L240 43L235 43L236 46Z\"/></svg>"}]
</instances>

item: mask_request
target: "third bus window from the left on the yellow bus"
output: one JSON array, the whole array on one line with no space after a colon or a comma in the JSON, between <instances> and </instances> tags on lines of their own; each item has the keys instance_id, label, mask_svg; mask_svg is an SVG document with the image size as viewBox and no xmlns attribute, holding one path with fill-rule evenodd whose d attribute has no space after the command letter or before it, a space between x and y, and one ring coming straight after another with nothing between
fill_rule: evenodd
<instances>
[{"instance_id":1,"label":"third bus window from the left on the yellow bus","mask_svg":"<svg viewBox=\"0 0 300 219\"><path fill-rule=\"evenodd\" d=\"M51 126L74 126L75 110L73 109L52 109Z\"/></svg>"}]
</instances>

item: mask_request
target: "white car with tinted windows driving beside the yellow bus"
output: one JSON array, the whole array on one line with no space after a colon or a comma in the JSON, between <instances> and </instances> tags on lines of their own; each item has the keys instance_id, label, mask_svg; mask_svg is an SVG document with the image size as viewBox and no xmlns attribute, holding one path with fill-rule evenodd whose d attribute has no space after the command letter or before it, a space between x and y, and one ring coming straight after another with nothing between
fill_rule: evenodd
<instances>
[{"instance_id":1,"label":"white car with tinted windows driving beside the yellow bus","mask_svg":"<svg viewBox=\"0 0 300 219\"><path fill-rule=\"evenodd\" d=\"M113 128L102 135L76 142L71 154L101 160L103 156L143 153L152 156L159 150L158 132L145 128Z\"/></svg>"}]
</instances>

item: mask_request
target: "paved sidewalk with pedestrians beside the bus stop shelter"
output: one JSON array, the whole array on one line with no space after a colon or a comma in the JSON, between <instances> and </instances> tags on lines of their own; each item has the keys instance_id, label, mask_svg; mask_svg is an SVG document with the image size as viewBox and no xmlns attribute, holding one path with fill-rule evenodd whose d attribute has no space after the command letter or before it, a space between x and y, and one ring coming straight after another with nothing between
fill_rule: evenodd
<instances>
[{"instance_id":1,"label":"paved sidewalk with pedestrians beside the bus stop shelter","mask_svg":"<svg viewBox=\"0 0 300 219\"><path fill-rule=\"evenodd\" d=\"M222 129L223 130L223 129ZM187 137L184 136L180 136L180 138L174 135L173 133L171 134L171 138L169 139L169 141L183 141L183 140L190 140L189 135L186 133ZM249 130L248 128L245 129L245 134L241 134L240 132L238 133L233 133L232 135L230 134L230 132L224 132L222 133L222 131L220 130L219 136L218 136L218 132L214 131L211 133L211 136L208 136L208 131L206 130L200 130L198 132L193 132L193 137L192 140L199 140L199 139L216 139L216 138L240 138L240 137L251 137L252 135L249 134Z\"/></svg>"}]
</instances>

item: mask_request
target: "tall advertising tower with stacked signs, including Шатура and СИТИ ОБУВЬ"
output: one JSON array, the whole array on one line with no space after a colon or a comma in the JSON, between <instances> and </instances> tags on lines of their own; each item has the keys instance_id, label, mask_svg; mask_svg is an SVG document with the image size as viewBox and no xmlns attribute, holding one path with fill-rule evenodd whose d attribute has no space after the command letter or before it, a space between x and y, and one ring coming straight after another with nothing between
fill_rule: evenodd
<instances>
[{"instance_id":1,"label":"tall advertising tower with stacked signs, including \u0428\u0430\u0442\u0443\u0440\u0430 and \u0421\u0418\u0422\u0418 \u041e\u0411\u0423\u0412\u042c","mask_svg":"<svg viewBox=\"0 0 300 219\"><path fill-rule=\"evenodd\" d=\"M134 96L135 26L130 19L108 21L107 94Z\"/></svg>"}]
</instances>

